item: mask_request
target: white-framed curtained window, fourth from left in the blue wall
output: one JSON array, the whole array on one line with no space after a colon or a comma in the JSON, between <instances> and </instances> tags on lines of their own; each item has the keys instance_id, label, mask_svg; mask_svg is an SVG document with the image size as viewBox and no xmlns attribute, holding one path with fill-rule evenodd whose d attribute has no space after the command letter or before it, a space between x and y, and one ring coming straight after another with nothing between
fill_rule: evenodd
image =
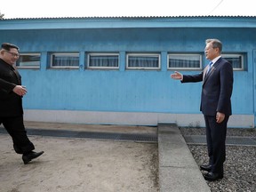
<instances>
[{"instance_id":1,"label":"white-framed curtained window, fourth from left in the blue wall","mask_svg":"<svg viewBox=\"0 0 256 192\"><path fill-rule=\"evenodd\" d=\"M128 54L128 68L159 68L159 55Z\"/></svg>"}]
</instances>

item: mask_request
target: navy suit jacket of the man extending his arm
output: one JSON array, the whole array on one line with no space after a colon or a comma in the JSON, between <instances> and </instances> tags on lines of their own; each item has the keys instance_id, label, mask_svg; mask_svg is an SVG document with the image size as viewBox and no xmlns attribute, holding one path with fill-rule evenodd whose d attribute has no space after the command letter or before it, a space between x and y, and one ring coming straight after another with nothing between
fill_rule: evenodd
<instances>
[{"instance_id":1,"label":"navy suit jacket of the man extending his arm","mask_svg":"<svg viewBox=\"0 0 256 192\"><path fill-rule=\"evenodd\" d=\"M233 90L233 68L223 58L217 60L206 75L208 67L195 76L183 76L182 83L203 81L200 110L205 116L215 116L216 112L226 116L232 114L231 95Z\"/></svg>"}]
</instances>

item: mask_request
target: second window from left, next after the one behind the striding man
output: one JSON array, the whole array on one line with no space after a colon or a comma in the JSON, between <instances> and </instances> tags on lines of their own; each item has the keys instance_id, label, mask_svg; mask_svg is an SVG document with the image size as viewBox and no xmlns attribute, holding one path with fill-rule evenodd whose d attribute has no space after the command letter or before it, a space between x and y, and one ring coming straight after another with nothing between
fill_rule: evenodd
<instances>
[{"instance_id":1,"label":"second window from left, next after the one behind the striding man","mask_svg":"<svg viewBox=\"0 0 256 192\"><path fill-rule=\"evenodd\" d=\"M51 68L79 68L79 54L52 53Z\"/></svg>"}]
</instances>

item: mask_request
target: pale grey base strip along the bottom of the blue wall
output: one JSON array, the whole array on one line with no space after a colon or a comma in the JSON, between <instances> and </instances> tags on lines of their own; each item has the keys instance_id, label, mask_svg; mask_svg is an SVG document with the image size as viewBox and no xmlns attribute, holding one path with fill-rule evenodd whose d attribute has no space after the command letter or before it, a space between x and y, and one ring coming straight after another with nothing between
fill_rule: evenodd
<instances>
[{"instance_id":1,"label":"pale grey base strip along the bottom of the blue wall","mask_svg":"<svg viewBox=\"0 0 256 192\"><path fill-rule=\"evenodd\" d=\"M157 125L175 123L179 126L204 127L202 114L139 113L139 112L101 112L72 110L36 110L24 111L25 121L68 123L68 124L130 124ZM230 116L228 127L254 127L254 115Z\"/></svg>"}]
</instances>

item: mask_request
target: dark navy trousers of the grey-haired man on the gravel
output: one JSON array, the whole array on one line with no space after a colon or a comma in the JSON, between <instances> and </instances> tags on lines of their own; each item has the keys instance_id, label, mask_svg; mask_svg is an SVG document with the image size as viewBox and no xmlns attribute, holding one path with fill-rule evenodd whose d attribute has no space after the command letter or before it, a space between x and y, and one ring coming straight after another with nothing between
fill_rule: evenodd
<instances>
[{"instance_id":1,"label":"dark navy trousers of the grey-haired man on the gravel","mask_svg":"<svg viewBox=\"0 0 256 192\"><path fill-rule=\"evenodd\" d=\"M226 136L228 117L222 123L216 123L216 116L204 116L206 125L206 141L209 164L212 172L223 174L223 164L226 160Z\"/></svg>"}]
</instances>

